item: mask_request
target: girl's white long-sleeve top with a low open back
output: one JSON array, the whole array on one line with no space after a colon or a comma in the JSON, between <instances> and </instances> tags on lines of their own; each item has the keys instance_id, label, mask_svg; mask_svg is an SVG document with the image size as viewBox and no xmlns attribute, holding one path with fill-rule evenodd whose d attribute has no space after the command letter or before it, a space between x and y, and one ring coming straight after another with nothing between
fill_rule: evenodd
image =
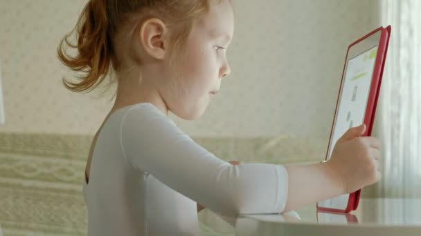
<instances>
[{"instance_id":1,"label":"girl's white long-sleeve top with a low open back","mask_svg":"<svg viewBox=\"0 0 421 236\"><path fill-rule=\"evenodd\" d=\"M141 103L103 124L83 190L88 235L199 235L197 202L225 216L280 213L288 175L280 165L231 165Z\"/></svg>"}]
</instances>

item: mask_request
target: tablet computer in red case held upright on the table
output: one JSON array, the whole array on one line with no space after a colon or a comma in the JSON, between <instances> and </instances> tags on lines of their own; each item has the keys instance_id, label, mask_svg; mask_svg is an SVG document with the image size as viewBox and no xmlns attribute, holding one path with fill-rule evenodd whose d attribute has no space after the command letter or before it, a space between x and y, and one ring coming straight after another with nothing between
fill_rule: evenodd
<instances>
[{"instance_id":1,"label":"tablet computer in red case held upright on the table","mask_svg":"<svg viewBox=\"0 0 421 236\"><path fill-rule=\"evenodd\" d=\"M330 159L334 145L351 127L366 124L362 136L370 136L382 82L391 26L380 27L348 46L341 87L334 112L325 159ZM357 209L361 189L355 193L319 201L319 210L348 213Z\"/></svg>"}]
</instances>

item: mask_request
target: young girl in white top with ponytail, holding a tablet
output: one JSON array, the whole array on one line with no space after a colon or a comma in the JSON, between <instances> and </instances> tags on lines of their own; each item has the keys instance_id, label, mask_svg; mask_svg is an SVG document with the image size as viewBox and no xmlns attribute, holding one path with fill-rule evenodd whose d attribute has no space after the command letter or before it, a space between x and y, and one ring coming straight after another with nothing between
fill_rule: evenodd
<instances>
[{"instance_id":1,"label":"young girl in white top with ponytail, holding a tablet","mask_svg":"<svg viewBox=\"0 0 421 236\"><path fill-rule=\"evenodd\" d=\"M73 91L115 72L116 101L86 168L89 235L198 235L201 206L220 215L283 213L379 180L379 142L350 128L323 164L230 164L168 118L199 118L230 73L229 0L91 0L58 55L86 72ZM65 46L77 48L72 57Z\"/></svg>"}]
</instances>

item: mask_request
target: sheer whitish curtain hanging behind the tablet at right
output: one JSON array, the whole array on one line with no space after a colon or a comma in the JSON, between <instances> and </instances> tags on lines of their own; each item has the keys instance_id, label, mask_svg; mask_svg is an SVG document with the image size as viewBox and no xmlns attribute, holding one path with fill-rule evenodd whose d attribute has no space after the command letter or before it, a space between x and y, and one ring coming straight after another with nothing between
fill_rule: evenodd
<instances>
[{"instance_id":1,"label":"sheer whitish curtain hanging behind the tablet at right","mask_svg":"<svg viewBox=\"0 0 421 236\"><path fill-rule=\"evenodd\" d=\"M377 135L383 143L379 197L421 197L421 1L380 0L391 25L379 99Z\"/></svg>"}]
</instances>

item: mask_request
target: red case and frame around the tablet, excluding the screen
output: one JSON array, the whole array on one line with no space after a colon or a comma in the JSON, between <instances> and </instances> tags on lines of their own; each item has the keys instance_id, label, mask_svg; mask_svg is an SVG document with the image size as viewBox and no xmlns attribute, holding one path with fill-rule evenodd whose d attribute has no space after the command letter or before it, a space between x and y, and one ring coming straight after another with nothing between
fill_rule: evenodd
<instances>
[{"instance_id":1,"label":"red case and frame around the tablet, excluding the screen","mask_svg":"<svg viewBox=\"0 0 421 236\"><path fill-rule=\"evenodd\" d=\"M373 69L373 78L372 78L371 86L370 86L370 95L368 95L366 115L364 116L364 124L366 124L366 132L362 136L370 136L371 130L373 129L375 111L376 111L376 107L377 107L377 99L379 97L379 90L380 90L380 85L382 83L384 63L386 61L386 53L387 53L389 38L391 36L391 26L387 26L386 28L383 28L383 27L377 28L377 29L373 30L372 32L368 33L367 35L365 35L364 37L362 37L361 39L358 39L354 43L351 43L350 46L348 46L348 50L346 52L346 57L345 57L345 64L343 65L341 87L339 89L337 106L336 106L336 109L334 111L334 118L333 119L335 119L335 117L337 115L337 110L338 110L338 106L339 106L339 99L340 99L339 96L341 95L341 90L342 90L342 86L343 86L343 76L345 75L346 62L347 62L347 59L348 59L348 52L349 52L350 48L352 46L355 46L357 43L363 41L364 39L370 37L371 35L375 34L376 32L379 32L379 31L382 31L382 35L380 36L380 39L379 39L379 46L378 46L378 49L377 49L377 57L376 57L375 66L374 66L374 69ZM325 157L326 160L328 159L328 153L329 153L329 148L330 148L330 140L332 139L332 135L333 135L333 128L334 128L334 123L332 124L332 129L330 130L329 145L328 145L328 150L326 152L326 157ZM334 145L334 144L332 144L332 145ZM337 209L337 208L320 207L319 204L316 204L316 208L318 210L326 210L326 211L330 211L330 212L349 213L350 211L357 209L360 195L361 195L361 189L357 190L354 193L350 193L350 196L349 196L349 199L348 199L348 205L347 205L345 210Z\"/></svg>"}]
</instances>

